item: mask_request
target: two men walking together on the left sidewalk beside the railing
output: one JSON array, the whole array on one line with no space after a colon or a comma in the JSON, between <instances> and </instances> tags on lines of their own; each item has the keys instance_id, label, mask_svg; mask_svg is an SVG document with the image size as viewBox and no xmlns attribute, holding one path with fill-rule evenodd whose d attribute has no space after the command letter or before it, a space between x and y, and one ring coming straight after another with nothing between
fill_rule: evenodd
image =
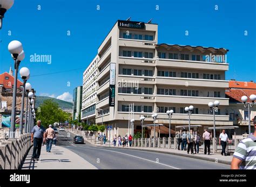
<instances>
[{"instance_id":1,"label":"two men walking together on the left sidewalk beside the railing","mask_svg":"<svg viewBox=\"0 0 256 187\"><path fill-rule=\"evenodd\" d=\"M51 152L52 143L56 145L57 136L55 134L52 125L49 125L49 128L45 128L41 125L41 121L37 120L37 125L34 126L31 130L31 142L33 143L33 161L38 161L41 155L41 148L44 143L46 143L46 152Z\"/></svg>"}]
</instances>

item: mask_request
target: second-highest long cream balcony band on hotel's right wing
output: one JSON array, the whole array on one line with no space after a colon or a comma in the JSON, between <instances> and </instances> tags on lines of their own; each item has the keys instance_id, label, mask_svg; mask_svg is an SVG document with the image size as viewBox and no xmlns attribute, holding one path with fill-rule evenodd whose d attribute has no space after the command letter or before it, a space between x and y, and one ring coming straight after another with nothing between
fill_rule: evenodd
<instances>
[{"instance_id":1,"label":"second-highest long cream balcony band on hotel's right wing","mask_svg":"<svg viewBox=\"0 0 256 187\"><path fill-rule=\"evenodd\" d=\"M191 79L179 77L157 77L156 84L159 85L177 85L177 86L196 86L196 87L214 87L228 88L227 80L209 80L209 79Z\"/></svg>"}]
</instances>

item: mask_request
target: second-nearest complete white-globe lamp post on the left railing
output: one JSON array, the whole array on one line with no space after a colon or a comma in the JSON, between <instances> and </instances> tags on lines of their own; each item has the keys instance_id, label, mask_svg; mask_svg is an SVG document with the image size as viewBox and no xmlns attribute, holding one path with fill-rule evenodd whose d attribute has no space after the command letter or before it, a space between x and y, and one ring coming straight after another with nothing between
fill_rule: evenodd
<instances>
[{"instance_id":1,"label":"second-nearest complete white-globe lamp post on the left railing","mask_svg":"<svg viewBox=\"0 0 256 187\"><path fill-rule=\"evenodd\" d=\"M21 70L19 70L19 74L21 74L21 78L23 79L21 117L19 120L19 134L23 134L24 95L25 95L26 81L29 79L29 73L30 73L29 69L26 67L22 67Z\"/></svg>"}]
</instances>

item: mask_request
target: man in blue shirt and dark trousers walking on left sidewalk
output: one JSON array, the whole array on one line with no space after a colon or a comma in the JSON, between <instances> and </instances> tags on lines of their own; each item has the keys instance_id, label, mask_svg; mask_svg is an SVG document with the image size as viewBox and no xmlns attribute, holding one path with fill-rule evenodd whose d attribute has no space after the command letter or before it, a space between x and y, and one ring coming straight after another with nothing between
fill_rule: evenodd
<instances>
[{"instance_id":1,"label":"man in blue shirt and dark trousers walking on left sidewalk","mask_svg":"<svg viewBox=\"0 0 256 187\"><path fill-rule=\"evenodd\" d=\"M31 130L31 142L33 143L33 161L39 160L41 155L42 143L45 142L45 128L41 125L41 121L37 120L37 125Z\"/></svg>"}]
</instances>

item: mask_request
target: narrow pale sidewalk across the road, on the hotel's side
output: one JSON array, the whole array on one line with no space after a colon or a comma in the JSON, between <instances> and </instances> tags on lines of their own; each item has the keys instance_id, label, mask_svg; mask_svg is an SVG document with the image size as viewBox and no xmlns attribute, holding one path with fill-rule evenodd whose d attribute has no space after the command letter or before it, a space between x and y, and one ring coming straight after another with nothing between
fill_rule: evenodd
<instances>
[{"instance_id":1,"label":"narrow pale sidewalk across the road, on the hotel's side","mask_svg":"<svg viewBox=\"0 0 256 187\"><path fill-rule=\"evenodd\" d=\"M75 131L70 131L73 134L80 135L78 133L75 133ZM223 163L223 164L231 164L233 156L223 156L221 154L213 154L211 153L210 155L205 155L203 151L199 151L199 154L187 154L187 151L181 151L178 149L168 149L168 148L149 148L149 147L114 147L113 144L109 145L109 142L106 142L106 144L101 144L99 141L93 140L90 141L86 139L84 136L84 140L91 143L92 145L98 146L98 147L106 147L106 148L116 148L116 149L131 149L131 150L142 150L142 151L151 151L151 152L156 152L156 153L165 153L165 154L171 154L171 155L177 155L177 156L185 156L185 157L190 157L190 158L196 158L199 160L205 160L205 161L210 161L210 162L215 162L215 163ZM118 145L118 142L117 142Z\"/></svg>"}]
</instances>

